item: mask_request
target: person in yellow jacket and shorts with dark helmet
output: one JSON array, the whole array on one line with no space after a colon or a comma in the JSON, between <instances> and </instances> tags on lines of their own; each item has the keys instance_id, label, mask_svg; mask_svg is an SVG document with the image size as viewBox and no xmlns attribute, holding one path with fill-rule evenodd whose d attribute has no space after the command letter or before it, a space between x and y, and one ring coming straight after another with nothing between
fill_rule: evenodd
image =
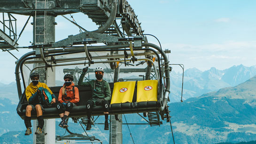
<instances>
[{"instance_id":1,"label":"person in yellow jacket and shorts with dark helmet","mask_svg":"<svg viewBox=\"0 0 256 144\"><path fill-rule=\"evenodd\" d=\"M37 91L39 87L43 87L47 89L51 95L52 95L52 101L51 104L55 103L55 95L54 93L49 89L49 87L46 85L46 83L40 83L39 82L39 73L33 72L30 75L31 78L31 83L26 87L26 98L28 101L28 106L26 107L26 116L24 118L24 123L27 128L25 135L30 135L31 132L31 111L36 111L37 112L37 119L38 119L38 127L36 129L35 134L39 135L42 133L42 128L44 126L44 119L43 119L43 110L44 107L39 104L39 100L35 99L37 95Z\"/></svg>"}]
</instances>

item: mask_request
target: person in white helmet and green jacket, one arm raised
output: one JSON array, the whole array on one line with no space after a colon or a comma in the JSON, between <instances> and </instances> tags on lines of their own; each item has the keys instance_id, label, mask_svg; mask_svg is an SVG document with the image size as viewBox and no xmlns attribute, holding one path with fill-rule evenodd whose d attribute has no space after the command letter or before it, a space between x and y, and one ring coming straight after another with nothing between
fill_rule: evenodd
<instances>
[{"instance_id":1,"label":"person in white helmet and green jacket, one arm raised","mask_svg":"<svg viewBox=\"0 0 256 144\"><path fill-rule=\"evenodd\" d=\"M78 85L80 86L89 86L92 90L91 99L86 102L86 113L88 118L88 123L86 126L86 130L90 130L91 126L91 114L92 108L94 106L103 106L104 115L105 115L105 130L109 130L109 100L111 99L111 92L109 83L103 80L104 76L104 68L97 67L94 69L96 80L91 80L88 82L83 82L83 78L85 73L87 72L88 67L83 68L83 72L78 80Z\"/></svg>"}]
</instances>

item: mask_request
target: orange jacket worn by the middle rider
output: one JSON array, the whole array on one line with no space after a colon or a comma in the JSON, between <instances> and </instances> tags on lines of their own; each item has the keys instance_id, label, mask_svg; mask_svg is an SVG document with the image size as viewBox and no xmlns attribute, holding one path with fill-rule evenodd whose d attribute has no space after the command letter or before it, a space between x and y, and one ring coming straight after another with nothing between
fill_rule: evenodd
<instances>
[{"instance_id":1,"label":"orange jacket worn by the middle rider","mask_svg":"<svg viewBox=\"0 0 256 144\"><path fill-rule=\"evenodd\" d=\"M63 84L63 86L64 85L65 84ZM75 90L75 94L74 94L73 93L73 86L75 86L74 83L72 83L70 86L66 87L65 95L64 96L62 96L62 89L63 89L63 87L61 88L60 93L59 93L59 98L58 98L58 101L60 103L70 101L71 103L75 103L76 104L76 103L79 102L79 91L78 91L78 88L74 87L74 90Z\"/></svg>"}]
</instances>

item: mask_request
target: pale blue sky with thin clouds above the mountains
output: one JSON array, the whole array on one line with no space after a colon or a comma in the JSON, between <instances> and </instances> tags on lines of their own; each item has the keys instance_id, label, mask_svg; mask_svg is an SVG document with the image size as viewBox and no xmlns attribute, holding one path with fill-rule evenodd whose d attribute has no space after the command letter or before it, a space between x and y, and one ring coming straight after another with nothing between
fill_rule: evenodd
<instances>
[{"instance_id":1,"label":"pale blue sky with thin clouds above the mountains","mask_svg":"<svg viewBox=\"0 0 256 144\"><path fill-rule=\"evenodd\" d=\"M154 35L163 49L171 50L169 60L172 64L184 64L185 70L198 68L202 71L211 67L223 70L233 65L256 65L256 0L127 1L138 15L144 34ZM86 30L97 29L87 15L72 15ZM19 34L28 16L15 17ZM55 21L58 23L55 41L79 33L79 29L62 16L57 16ZM31 45L30 23L18 41L19 46ZM148 36L148 40L159 45L153 37ZM29 51L10 52L20 58ZM15 61L8 52L0 52L0 83L15 82ZM180 68L174 66L173 70Z\"/></svg>"}]
</instances>

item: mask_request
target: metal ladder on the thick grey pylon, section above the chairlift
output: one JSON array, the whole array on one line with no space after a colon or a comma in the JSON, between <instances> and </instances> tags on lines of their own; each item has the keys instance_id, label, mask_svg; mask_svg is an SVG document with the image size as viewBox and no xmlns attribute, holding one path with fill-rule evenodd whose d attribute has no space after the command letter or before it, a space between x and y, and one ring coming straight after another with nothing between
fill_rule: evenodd
<instances>
[{"instance_id":1,"label":"metal ladder on the thick grey pylon, section above the chairlift","mask_svg":"<svg viewBox=\"0 0 256 144\"><path fill-rule=\"evenodd\" d=\"M42 8L46 9L46 0L36 0L35 9ZM44 11L44 15L37 15L35 11L35 45L42 45L46 42L46 14L47 12Z\"/></svg>"}]
</instances>

